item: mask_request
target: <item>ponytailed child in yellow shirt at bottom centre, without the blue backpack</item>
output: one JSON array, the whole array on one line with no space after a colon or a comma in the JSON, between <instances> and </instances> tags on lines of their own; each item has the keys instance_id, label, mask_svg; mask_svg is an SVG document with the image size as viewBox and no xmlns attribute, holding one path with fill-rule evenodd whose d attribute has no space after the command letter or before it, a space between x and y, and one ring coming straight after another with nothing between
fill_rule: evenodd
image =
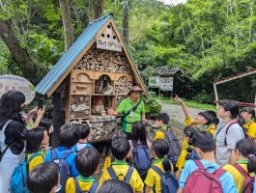
<instances>
[{"instance_id":1,"label":"ponytailed child in yellow shirt at bottom centre, without the blue backpack","mask_svg":"<svg viewBox=\"0 0 256 193\"><path fill-rule=\"evenodd\" d=\"M153 167L149 169L147 177L145 179L145 193L161 192L161 176L158 174L157 170L162 173L172 172L172 163L167 158L167 153L169 152L169 144L163 139L156 139L153 142L153 154L156 157L156 161L153 163ZM178 179L177 179L177 189L178 189Z\"/></svg>"}]
</instances>

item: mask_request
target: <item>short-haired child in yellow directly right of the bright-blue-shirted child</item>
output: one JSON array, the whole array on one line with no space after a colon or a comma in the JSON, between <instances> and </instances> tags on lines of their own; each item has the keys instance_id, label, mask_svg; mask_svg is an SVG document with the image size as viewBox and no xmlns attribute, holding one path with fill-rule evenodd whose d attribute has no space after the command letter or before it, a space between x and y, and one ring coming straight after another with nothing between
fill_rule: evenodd
<instances>
[{"instance_id":1,"label":"short-haired child in yellow directly right of the bright-blue-shirted child","mask_svg":"<svg viewBox=\"0 0 256 193\"><path fill-rule=\"evenodd\" d=\"M95 193L99 183L92 175L98 169L100 153L94 148L84 148L75 156L75 167L79 172L77 178L70 178L66 184L66 193L90 192Z\"/></svg>"}]
</instances>

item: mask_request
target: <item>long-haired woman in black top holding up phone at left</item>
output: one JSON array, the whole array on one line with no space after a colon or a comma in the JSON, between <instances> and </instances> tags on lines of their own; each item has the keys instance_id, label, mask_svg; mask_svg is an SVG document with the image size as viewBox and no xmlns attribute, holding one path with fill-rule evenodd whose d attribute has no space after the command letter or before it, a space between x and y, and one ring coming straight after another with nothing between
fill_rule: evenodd
<instances>
[{"instance_id":1,"label":"long-haired woman in black top holding up phone at left","mask_svg":"<svg viewBox=\"0 0 256 193\"><path fill-rule=\"evenodd\" d=\"M25 96L18 91L8 91L0 98L1 192L9 192L14 168L24 159L24 141L28 131L25 123L38 114L37 120L32 126L34 128L38 126L43 117L44 107L39 110L38 107L35 107L25 120L20 113L25 106L24 103Z\"/></svg>"}]
</instances>

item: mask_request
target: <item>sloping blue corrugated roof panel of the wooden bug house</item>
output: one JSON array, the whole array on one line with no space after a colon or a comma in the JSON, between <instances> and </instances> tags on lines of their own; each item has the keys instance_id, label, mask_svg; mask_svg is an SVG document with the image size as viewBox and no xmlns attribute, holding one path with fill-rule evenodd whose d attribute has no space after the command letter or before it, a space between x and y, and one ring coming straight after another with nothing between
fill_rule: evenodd
<instances>
[{"instance_id":1,"label":"sloping blue corrugated roof panel of the wooden bug house","mask_svg":"<svg viewBox=\"0 0 256 193\"><path fill-rule=\"evenodd\" d=\"M79 36L79 38L72 43L68 51L61 57L61 59L56 63L56 65L52 69L50 69L49 72L43 77L43 79L36 87L36 92L42 95L46 95L46 93L53 87L53 85L65 73L65 71L71 67L72 62L85 49L88 43L95 38L95 36L98 34L102 26L107 22L107 20L111 16L113 15L107 14L89 23L88 27Z\"/></svg>"}]
</instances>

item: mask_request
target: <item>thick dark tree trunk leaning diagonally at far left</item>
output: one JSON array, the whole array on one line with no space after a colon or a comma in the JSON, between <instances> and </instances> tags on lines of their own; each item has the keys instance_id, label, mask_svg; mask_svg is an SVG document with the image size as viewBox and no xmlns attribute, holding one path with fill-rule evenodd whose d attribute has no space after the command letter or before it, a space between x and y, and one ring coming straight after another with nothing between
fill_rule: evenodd
<instances>
[{"instance_id":1,"label":"thick dark tree trunk leaning diagonally at far left","mask_svg":"<svg viewBox=\"0 0 256 193\"><path fill-rule=\"evenodd\" d=\"M29 57L29 54L25 49L23 49L16 38L14 37L14 32L12 30L12 20L2 20L0 19L0 37L5 42L5 44L8 46L11 54L12 59L15 63L19 65L19 68L23 73L24 77L30 80L31 83L36 84L37 79L37 73L35 73L36 65L32 62L32 60Z\"/></svg>"}]
</instances>

